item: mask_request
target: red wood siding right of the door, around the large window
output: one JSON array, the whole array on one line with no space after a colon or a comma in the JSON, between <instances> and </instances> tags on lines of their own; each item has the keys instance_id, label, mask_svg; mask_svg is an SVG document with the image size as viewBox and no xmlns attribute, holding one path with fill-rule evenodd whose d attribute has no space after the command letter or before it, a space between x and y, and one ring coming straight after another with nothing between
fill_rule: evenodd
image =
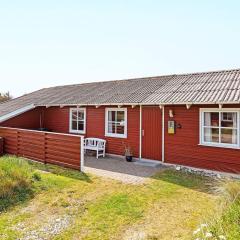
<instances>
[{"instance_id":1,"label":"red wood siding right of the door, around the large window","mask_svg":"<svg viewBox=\"0 0 240 240\"><path fill-rule=\"evenodd\" d=\"M200 107L206 108L206 106L192 106L187 110L186 106L165 107L166 126L169 109L174 112L173 119L182 126L174 135L169 135L167 127L165 128L165 162L239 173L239 149L199 146ZM213 108L213 106L209 107Z\"/></svg>"}]
</instances>

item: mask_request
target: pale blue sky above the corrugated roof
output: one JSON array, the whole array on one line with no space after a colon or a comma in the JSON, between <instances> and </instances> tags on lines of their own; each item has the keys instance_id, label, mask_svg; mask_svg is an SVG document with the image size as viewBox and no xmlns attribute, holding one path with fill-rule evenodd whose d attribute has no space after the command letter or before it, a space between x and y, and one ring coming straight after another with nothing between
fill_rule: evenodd
<instances>
[{"instance_id":1,"label":"pale blue sky above the corrugated roof","mask_svg":"<svg viewBox=\"0 0 240 240\"><path fill-rule=\"evenodd\" d=\"M240 2L0 0L0 91L240 68Z\"/></svg>"}]
</instances>

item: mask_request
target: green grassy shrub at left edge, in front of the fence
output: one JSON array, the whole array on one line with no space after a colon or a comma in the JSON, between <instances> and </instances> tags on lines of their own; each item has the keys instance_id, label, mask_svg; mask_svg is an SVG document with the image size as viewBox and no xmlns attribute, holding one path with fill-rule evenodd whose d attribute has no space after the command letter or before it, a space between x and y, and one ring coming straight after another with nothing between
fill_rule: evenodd
<instances>
[{"instance_id":1,"label":"green grassy shrub at left edge, in front of the fence","mask_svg":"<svg viewBox=\"0 0 240 240\"><path fill-rule=\"evenodd\" d=\"M0 211L29 198L33 191L32 169L27 161L0 158Z\"/></svg>"}]
</instances>

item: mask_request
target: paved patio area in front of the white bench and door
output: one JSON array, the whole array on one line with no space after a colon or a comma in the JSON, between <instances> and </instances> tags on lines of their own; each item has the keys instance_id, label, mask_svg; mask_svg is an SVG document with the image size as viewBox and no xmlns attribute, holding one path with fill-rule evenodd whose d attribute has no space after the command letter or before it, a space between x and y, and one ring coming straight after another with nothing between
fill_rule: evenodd
<instances>
[{"instance_id":1,"label":"paved patio area in front of the white bench and door","mask_svg":"<svg viewBox=\"0 0 240 240\"><path fill-rule=\"evenodd\" d=\"M85 156L84 167L87 173L130 184L141 184L164 168L161 164L145 164L137 160L127 162L124 158L112 156L99 159L93 156Z\"/></svg>"}]
</instances>

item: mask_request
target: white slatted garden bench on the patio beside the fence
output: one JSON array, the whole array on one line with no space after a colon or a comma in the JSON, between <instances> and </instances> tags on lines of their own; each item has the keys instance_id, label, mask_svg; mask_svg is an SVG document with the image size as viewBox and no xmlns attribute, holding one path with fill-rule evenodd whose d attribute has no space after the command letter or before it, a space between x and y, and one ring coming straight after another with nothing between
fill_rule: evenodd
<instances>
[{"instance_id":1,"label":"white slatted garden bench on the patio beside the fence","mask_svg":"<svg viewBox=\"0 0 240 240\"><path fill-rule=\"evenodd\" d=\"M105 147L106 147L106 140L100 138L85 138L84 139L84 152L86 150L96 151L97 159L100 156L105 157Z\"/></svg>"}]
</instances>

